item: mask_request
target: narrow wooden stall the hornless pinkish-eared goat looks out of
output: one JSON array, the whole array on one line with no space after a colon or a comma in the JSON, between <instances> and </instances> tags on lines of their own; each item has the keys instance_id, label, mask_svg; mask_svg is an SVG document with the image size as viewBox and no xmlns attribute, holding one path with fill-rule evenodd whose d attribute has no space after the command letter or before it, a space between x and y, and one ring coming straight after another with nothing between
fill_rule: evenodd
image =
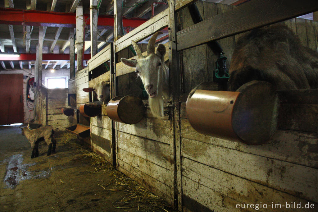
<instances>
[{"instance_id":1,"label":"narrow wooden stall the hornless pinkish-eared goat looks out of","mask_svg":"<svg viewBox=\"0 0 318 212\"><path fill-rule=\"evenodd\" d=\"M113 44L109 44L99 53L88 60L89 86L93 87L95 82L110 80L110 67L113 53ZM90 117L92 150L113 164L115 157L115 145L112 139L112 120L106 113L106 104L98 102L94 93L90 93L90 104L101 104L101 114Z\"/></svg>"}]
</instances>

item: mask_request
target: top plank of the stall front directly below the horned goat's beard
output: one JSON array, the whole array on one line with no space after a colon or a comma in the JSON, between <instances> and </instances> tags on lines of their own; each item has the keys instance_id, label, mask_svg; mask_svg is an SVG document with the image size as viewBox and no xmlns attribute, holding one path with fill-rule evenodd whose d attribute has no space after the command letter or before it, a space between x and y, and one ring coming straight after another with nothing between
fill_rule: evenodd
<instances>
[{"instance_id":1,"label":"top plank of the stall front directly below the horned goat's beard","mask_svg":"<svg viewBox=\"0 0 318 212\"><path fill-rule=\"evenodd\" d=\"M117 122L117 130L166 144L171 144L172 142L172 123L169 120L144 117L137 124Z\"/></svg>"}]
</instances>

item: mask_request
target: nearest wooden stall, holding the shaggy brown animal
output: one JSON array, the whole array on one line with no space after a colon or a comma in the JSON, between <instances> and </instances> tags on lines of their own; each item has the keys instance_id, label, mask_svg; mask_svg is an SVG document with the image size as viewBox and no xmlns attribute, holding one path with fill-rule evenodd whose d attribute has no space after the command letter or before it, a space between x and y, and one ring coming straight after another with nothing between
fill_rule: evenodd
<instances>
[{"instance_id":1,"label":"nearest wooden stall, holding the shaggy brown animal","mask_svg":"<svg viewBox=\"0 0 318 212\"><path fill-rule=\"evenodd\" d=\"M171 34L175 33L170 40L174 112L175 118L180 118L174 126L179 210L252 211L255 204L272 207L273 203L285 211L287 203L296 202L302 207L314 204L315 208L308 211L315 211L318 89L278 91L279 129L264 145L245 145L198 133L186 117L185 101L196 85L213 79L215 56L205 45L209 41L221 39L229 64L239 33L288 19L280 24L290 27L303 45L317 50L317 23L294 18L317 11L317 2L253 0L235 8L197 2L205 19L198 24L193 24L186 8L192 2L169 4L170 18L180 18L170 19ZM246 208L246 204L254 204L254 209Z\"/></svg>"}]
</instances>

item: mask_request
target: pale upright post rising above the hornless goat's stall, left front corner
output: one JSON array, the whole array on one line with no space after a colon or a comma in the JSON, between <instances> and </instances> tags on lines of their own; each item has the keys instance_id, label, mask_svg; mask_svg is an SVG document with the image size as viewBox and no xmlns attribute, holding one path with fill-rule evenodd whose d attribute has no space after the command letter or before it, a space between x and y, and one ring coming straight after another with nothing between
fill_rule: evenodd
<instances>
[{"instance_id":1,"label":"pale upright post rising above the hornless goat's stall, left front corner","mask_svg":"<svg viewBox=\"0 0 318 212\"><path fill-rule=\"evenodd\" d=\"M97 0L91 3L91 58L97 54Z\"/></svg>"}]
</instances>

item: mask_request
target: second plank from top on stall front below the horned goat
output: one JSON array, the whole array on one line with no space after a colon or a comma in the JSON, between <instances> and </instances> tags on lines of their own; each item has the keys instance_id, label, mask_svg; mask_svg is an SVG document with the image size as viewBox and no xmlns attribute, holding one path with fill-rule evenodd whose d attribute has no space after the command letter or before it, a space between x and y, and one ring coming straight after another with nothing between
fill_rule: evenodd
<instances>
[{"instance_id":1,"label":"second plank from top on stall front below the horned goat","mask_svg":"<svg viewBox=\"0 0 318 212\"><path fill-rule=\"evenodd\" d=\"M118 148L132 153L156 165L172 170L173 159L170 145L118 132Z\"/></svg>"}]
</instances>

